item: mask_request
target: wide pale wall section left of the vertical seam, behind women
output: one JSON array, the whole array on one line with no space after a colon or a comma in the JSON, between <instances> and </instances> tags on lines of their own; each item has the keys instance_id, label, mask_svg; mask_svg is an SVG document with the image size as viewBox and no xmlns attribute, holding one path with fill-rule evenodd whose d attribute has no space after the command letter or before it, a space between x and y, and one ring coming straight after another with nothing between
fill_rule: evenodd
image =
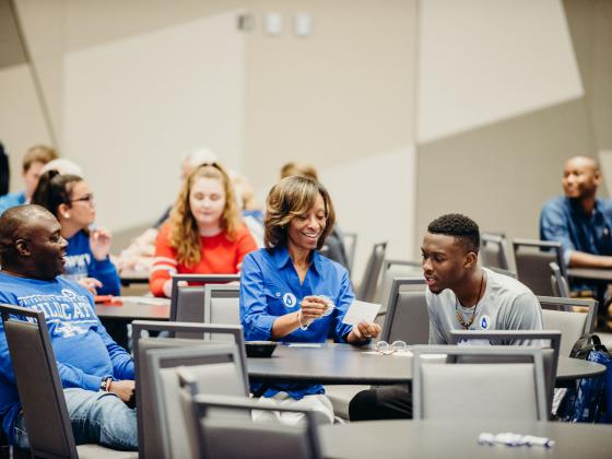
<instances>
[{"instance_id":1,"label":"wide pale wall section left of the vertical seam, behind women","mask_svg":"<svg viewBox=\"0 0 612 459\"><path fill-rule=\"evenodd\" d=\"M83 166L101 225L152 221L178 155L209 145L260 198L282 164L314 164L360 235L357 274L376 242L412 256L415 0L19 3L59 150ZM238 11L252 31L236 31ZM313 32L297 37L304 11Z\"/></svg>"}]
</instances>

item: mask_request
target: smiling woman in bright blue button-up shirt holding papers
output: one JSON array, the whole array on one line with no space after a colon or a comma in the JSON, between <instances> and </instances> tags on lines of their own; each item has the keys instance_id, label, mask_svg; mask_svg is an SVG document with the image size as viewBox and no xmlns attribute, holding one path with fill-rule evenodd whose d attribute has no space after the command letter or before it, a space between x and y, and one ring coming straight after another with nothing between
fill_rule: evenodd
<instances>
[{"instance_id":1,"label":"smiling woman in bright blue button-up shirt holding papers","mask_svg":"<svg viewBox=\"0 0 612 459\"><path fill-rule=\"evenodd\" d=\"M320 255L334 222L331 199L318 181L292 176L268 195L264 245L245 257L240 279L240 320L247 341L361 344L380 332L376 323L342 322L355 295L349 273ZM321 385L275 382L254 385L261 402L313 409L320 422L332 423L330 400ZM254 414L263 416L263 412ZM285 421L286 413L279 413ZM286 419L286 422L294 422Z\"/></svg>"}]
</instances>

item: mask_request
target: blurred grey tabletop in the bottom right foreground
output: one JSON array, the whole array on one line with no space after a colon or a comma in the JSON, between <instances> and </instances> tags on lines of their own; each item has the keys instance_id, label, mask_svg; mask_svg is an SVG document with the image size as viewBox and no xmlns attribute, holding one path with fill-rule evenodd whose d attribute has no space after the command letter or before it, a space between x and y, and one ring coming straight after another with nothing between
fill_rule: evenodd
<instances>
[{"instance_id":1,"label":"blurred grey tabletop in the bottom right foreground","mask_svg":"<svg viewBox=\"0 0 612 459\"><path fill-rule=\"evenodd\" d=\"M555 445L479 445L482 432L542 436ZM368 421L320 426L319 439L326 458L605 458L611 457L612 426L481 420Z\"/></svg>"}]
</instances>

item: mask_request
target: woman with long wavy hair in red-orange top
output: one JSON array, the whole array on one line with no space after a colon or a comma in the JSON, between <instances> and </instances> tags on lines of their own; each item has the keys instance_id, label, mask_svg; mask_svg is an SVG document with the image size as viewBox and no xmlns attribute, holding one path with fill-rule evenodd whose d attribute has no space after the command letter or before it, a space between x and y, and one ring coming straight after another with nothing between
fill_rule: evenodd
<instances>
[{"instance_id":1,"label":"woman with long wavy hair in red-orange top","mask_svg":"<svg viewBox=\"0 0 612 459\"><path fill-rule=\"evenodd\" d=\"M149 285L170 296L173 273L235 274L257 244L242 223L234 189L217 163L185 179L168 222L162 226Z\"/></svg>"}]
</instances>

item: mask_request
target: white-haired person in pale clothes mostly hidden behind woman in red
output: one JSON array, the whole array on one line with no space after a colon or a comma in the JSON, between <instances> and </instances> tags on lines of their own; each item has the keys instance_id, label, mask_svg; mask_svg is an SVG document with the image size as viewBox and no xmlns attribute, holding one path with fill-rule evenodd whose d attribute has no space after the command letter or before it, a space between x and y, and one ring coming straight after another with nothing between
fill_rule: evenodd
<instances>
[{"instance_id":1,"label":"white-haired person in pale clothes mostly hidden behind woman in red","mask_svg":"<svg viewBox=\"0 0 612 459\"><path fill-rule=\"evenodd\" d=\"M199 165L214 163L216 155L209 149L192 149L187 151L180 160L180 181L183 183ZM168 220L172 205L155 221L153 226L146 228L136 237L128 248L123 249L116 258L119 272L151 271L153 267L153 256L155 255L155 239L160 227Z\"/></svg>"}]
</instances>

